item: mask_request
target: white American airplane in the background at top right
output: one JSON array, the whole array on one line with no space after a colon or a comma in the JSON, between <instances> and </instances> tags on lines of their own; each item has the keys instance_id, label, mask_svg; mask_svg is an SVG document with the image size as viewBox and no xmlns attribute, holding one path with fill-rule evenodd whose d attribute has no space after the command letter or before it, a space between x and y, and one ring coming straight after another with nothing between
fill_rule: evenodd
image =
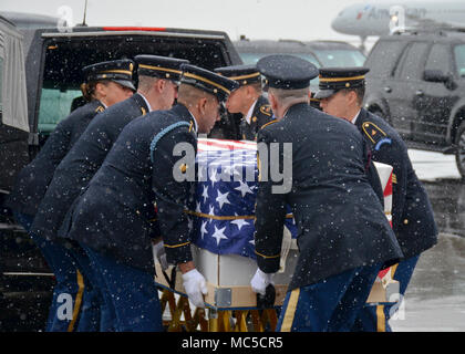
<instances>
[{"instance_id":1,"label":"white American airplane in the background at top right","mask_svg":"<svg viewBox=\"0 0 465 354\"><path fill-rule=\"evenodd\" d=\"M359 35L384 35L409 29L465 29L465 1L365 1L344 8L332 21L334 31Z\"/></svg>"}]
</instances>

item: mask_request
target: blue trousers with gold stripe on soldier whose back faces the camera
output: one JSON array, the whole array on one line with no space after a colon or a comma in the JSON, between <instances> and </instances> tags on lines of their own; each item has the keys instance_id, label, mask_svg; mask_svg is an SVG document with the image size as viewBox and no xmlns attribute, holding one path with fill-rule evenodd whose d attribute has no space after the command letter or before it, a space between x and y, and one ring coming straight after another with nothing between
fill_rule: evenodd
<instances>
[{"instance_id":1,"label":"blue trousers with gold stripe on soldier whose back faces the camera","mask_svg":"<svg viewBox=\"0 0 465 354\"><path fill-rule=\"evenodd\" d=\"M348 332L381 263L359 267L287 293L277 332Z\"/></svg>"}]
</instances>

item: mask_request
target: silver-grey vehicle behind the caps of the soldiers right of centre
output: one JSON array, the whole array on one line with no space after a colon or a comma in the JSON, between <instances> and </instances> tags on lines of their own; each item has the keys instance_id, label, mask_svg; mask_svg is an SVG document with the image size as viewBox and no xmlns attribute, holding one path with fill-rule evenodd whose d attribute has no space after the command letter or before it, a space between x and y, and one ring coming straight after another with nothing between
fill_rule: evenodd
<instances>
[{"instance_id":1,"label":"silver-grey vehicle behind the caps of the soldiers right of centre","mask_svg":"<svg viewBox=\"0 0 465 354\"><path fill-rule=\"evenodd\" d=\"M242 38L232 42L246 64L256 64L262 56L270 54L291 54L300 56L317 67L361 66L365 55L355 46L339 41L256 40ZM318 90L318 77L310 82L311 91Z\"/></svg>"}]
</instances>

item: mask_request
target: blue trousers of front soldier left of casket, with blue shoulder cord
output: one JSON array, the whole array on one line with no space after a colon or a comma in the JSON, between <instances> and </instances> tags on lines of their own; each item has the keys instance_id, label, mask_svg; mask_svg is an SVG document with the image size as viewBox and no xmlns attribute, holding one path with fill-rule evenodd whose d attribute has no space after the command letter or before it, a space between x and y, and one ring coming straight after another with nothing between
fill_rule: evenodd
<instances>
[{"instance_id":1,"label":"blue trousers of front soldier left of casket, with blue shoulder cord","mask_svg":"<svg viewBox=\"0 0 465 354\"><path fill-rule=\"evenodd\" d=\"M162 309L154 274L128 267L81 244L99 273L104 301L112 303L116 332L162 332Z\"/></svg>"}]
</instances>

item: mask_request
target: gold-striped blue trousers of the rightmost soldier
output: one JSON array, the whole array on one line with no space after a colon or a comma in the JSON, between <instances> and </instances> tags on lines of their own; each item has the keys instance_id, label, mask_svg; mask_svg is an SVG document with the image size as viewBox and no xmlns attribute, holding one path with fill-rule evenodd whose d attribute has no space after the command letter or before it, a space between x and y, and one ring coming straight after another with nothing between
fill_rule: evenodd
<instances>
[{"instance_id":1,"label":"gold-striped blue trousers of the rightmost soldier","mask_svg":"<svg viewBox=\"0 0 465 354\"><path fill-rule=\"evenodd\" d=\"M403 301L406 288L412 279L416 262L420 256L409 258L393 266L392 278L399 281L400 301L395 303L369 305L365 304L360 310L352 331L354 332L392 332L389 320L399 310L400 302Z\"/></svg>"}]
</instances>

